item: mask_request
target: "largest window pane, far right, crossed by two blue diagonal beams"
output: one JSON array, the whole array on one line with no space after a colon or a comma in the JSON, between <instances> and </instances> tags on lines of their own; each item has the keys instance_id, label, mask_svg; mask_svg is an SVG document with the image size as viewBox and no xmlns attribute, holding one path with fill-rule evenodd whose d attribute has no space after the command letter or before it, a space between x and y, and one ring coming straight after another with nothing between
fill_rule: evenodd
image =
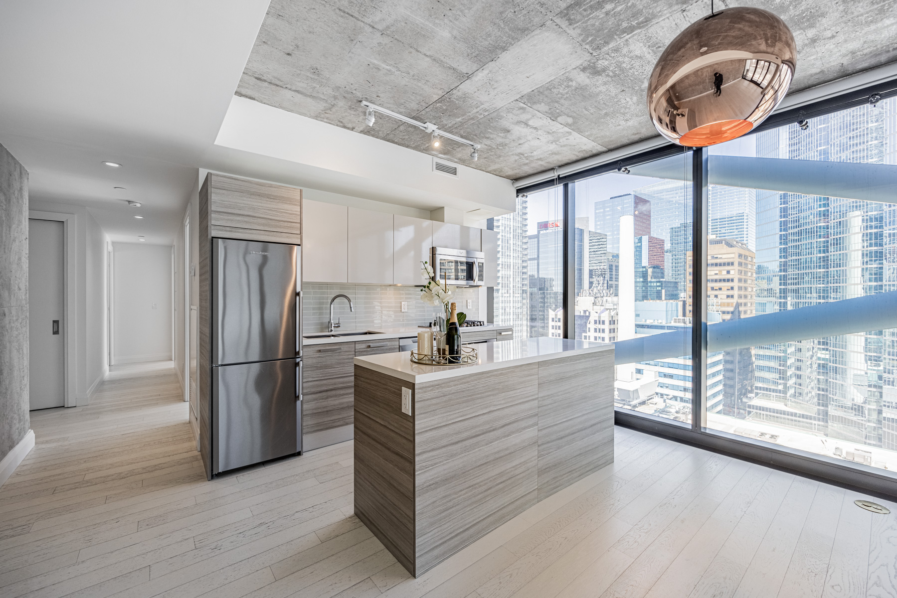
<instances>
[{"instance_id":1,"label":"largest window pane, far right, crossed by two blue diagonal beams","mask_svg":"<svg viewBox=\"0 0 897 598\"><path fill-rule=\"evenodd\" d=\"M897 468L897 98L723 143L709 175L708 429Z\"/></svg>"}]
</instances>

